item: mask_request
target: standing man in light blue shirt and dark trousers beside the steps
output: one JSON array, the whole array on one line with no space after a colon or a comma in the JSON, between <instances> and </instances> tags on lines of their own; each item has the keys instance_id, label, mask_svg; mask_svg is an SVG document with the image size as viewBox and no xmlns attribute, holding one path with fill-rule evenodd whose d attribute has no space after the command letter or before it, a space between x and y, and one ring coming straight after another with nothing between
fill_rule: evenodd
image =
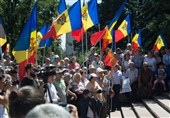
<instances>
[{"instance_id":1,"label":"standing man in light blue shirt and dark trousers beside the steps","mask_svg":"<svg viewBox=\"0 0 170 118\"><path fill-rule=\"evenodd\" d=\"M116 109L120 110L121 107L119 95L120 95L120 89L122 85L122 72L120 70L119 64L115 64L112 67L111 73L114 81L113 91L115 93L114 97L112 98L112 111L115 111Z\"/></svg>"}]
</instances>

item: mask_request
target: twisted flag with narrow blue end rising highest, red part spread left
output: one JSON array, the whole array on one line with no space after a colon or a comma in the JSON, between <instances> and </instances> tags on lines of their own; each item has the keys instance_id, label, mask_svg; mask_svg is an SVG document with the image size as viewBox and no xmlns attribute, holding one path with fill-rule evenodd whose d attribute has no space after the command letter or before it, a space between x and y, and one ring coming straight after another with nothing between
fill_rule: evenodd
<instances>
[{"instance_id":1,"label":"twisted flag with narrow blue end rising highest, red part spread left","mask_svg":"<svg viewBox=\"0 0 170 118\"><path fill-rule=\"evenodd\" d=\"M124 2L121 5L121 7L116 12L116 15L113 17L113 19L110 22L110 24L105 27L105 30L102 30L103 33L101 33L101 31L100 31L100 32L97 32L97 33L94 33L94 34L91 35L90 41L91 41L91 45L92 46L94 46L101 39L103 39L102 49L105 49L109 43L112 43L112 38L113 38L112 37L112 30L113 30L114 26L117 23L117 20L119 19L120 15L122 14L122 12L124 10L125 3L126 2Z\"/></svg>"}]
</instances>

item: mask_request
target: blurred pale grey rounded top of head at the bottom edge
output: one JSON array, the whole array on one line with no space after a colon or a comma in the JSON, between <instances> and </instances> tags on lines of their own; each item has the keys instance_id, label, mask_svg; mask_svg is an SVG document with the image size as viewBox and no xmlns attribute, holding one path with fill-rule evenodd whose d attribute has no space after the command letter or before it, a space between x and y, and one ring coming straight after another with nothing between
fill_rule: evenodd
<instances>
[{"instance_id":1,"label":"blurred pale grey rounded top of head at the bottom edge","mask_svg":"<svg viewBox=\"0 0 170 118\"><path fill-rule=\"evenodd\" d=\"M57 104L42 104L33 108L25 118L72 118L71 114Z\"/></svg>"}]
</instances>

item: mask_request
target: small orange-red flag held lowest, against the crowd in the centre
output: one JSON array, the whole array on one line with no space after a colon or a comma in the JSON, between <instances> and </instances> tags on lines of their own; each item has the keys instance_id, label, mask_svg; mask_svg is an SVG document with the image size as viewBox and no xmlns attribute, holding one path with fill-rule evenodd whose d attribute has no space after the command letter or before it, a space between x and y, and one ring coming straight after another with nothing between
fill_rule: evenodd
<instances>
[{"instance_id":1,"label":"small orange-red flag held lowest, against the crowd in the centre","mask_svg":"<svg viewBox=\"0 0 170 118\"><path fill-rule=\"evenodd\" d=\"M112 49L109 49L109 51L104 59L105 65L111 67L112 65L115 65L117 62L118 62L118 60L113 56Z\"/></svg>"}]
</instances>

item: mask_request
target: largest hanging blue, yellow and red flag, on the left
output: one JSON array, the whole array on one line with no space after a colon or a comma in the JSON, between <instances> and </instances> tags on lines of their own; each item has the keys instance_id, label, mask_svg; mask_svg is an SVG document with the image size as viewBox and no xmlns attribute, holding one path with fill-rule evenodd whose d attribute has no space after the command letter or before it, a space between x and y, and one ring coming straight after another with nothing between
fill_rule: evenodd
<instances>
[{"instance_id":1,"label":"largest hanging blue, yellow and red flag, on the left","mask_svg":"<svg viewBox=\"0 0 170 118\"><path fill-rule=\"evenodd\" d=\"M35 3L31 15L12 51L17 63L19 64L20 80L25 74L25 65L27 63L35 63L34 55L36 51L37 36L37 3Z\"/></svg>"}]
</instances>

